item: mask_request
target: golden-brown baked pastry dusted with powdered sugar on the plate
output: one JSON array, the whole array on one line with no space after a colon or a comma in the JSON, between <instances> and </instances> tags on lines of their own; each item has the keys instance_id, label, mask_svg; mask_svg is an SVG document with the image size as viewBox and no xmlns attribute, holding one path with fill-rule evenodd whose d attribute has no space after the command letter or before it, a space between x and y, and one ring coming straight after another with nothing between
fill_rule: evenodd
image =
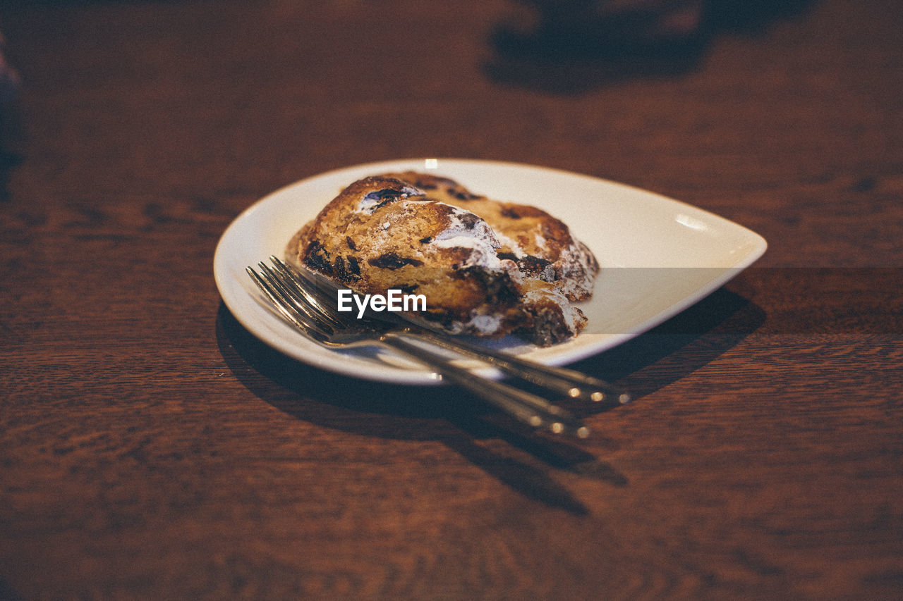
<instances>
[{"instance_id":1,"label":"golden-brown baked pastry dusted with powdered sugar on the plate","mask_svg":"<svg viewBox=\"0 0 903 601\"><path fill-rule=\"evenodd\" d=\"M586 298L591 280L569 283L566 270L554 266L562 250L537 257L537 265L545 262L541 269L525 269L530 262L524 258L536 255L518 256L489 219L430 198L407 180L375 176L353 182L293 237L288 259L361 294L423 294L426 309L408 316L452 334L516 333L548 346L582 329L586 318L567 291ZM570 240L566 227L564 233Z\"/></svg>"}]
</instances>

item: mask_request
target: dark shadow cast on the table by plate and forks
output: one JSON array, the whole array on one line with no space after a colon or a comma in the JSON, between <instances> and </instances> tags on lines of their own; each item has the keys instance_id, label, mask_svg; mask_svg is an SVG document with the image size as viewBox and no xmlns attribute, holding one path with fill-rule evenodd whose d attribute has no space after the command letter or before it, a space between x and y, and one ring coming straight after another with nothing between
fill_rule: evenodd
<instances>
[{"instance_id":1,"label":"dark shadow cast on the table by plate and forks","mask_svg":"<svg viewBox=\"0 0 903 601\"><path fill-rule=\"evenodd\" d=\"M764 319L758 306L721 289L647 334L573 367L622 384L641 403L720 356ZM223 304L217 339L226 364L249 391L299 420L366 436L442 441L520 494L575 514L587 509L555 482L550 468L628 485L626 476L579 443L527 430L452 386L369 382L295 361L250 334ZM582 418L605 411L562 404ZM593 445L617 448L599 435Z\"/></svg>"}]
</instances>

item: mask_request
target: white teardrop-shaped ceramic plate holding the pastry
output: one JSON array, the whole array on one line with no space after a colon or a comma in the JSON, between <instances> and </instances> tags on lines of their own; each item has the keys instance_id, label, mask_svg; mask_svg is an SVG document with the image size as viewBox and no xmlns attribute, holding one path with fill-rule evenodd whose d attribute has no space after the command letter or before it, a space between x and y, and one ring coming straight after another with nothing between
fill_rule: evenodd
<instances>
[{"instance_id":1,"label":"white teardrop-shaped ceramic plate holding the pastry","mask_svg":"<svg viewBox=\"0 0 903 601\"><path fill-rule=\"evenodd\" d=\"M543 208L571 227L601 272L580 336L538 348L516 337L486 341L547 365L599 353L702 300L765 252L765 239L727 219L608 180L509 162L412 159L356 165L301 180L247 208L226 229L213 260L228 310L285 355L322 369L397 384L436 384L435 374L380 349L332 351L312 343L268 308L245 268L288 240L354 180L385 171L431 171L490 198ZM461 365L474 366L461 360ZM495 370L483 374L498 376Z\"/></svg>"}]
</instances>

